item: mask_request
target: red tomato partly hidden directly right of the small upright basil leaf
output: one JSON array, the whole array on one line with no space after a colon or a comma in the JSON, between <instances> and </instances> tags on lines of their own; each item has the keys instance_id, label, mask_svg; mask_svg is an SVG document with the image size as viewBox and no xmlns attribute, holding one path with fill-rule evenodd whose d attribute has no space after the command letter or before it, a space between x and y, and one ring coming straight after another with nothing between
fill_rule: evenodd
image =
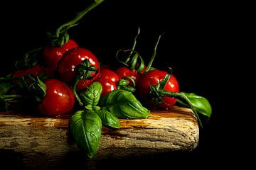
<instances>
[{"instance_id":1,"label":"red tomato partly hidden directly right of the small upright basil leaf","mask_svg":"<svg viewBox=\"0 0 256 170\"><path fill-rule=\"evenodd\" d=\"M110 69L101 69L100 75L97 77L95 81L99 81L102 84L102 94L101 97L110 93L110 91L117 89L117 83L119 81L119 77L115 72Z\"/></svg>"}]
</instances>

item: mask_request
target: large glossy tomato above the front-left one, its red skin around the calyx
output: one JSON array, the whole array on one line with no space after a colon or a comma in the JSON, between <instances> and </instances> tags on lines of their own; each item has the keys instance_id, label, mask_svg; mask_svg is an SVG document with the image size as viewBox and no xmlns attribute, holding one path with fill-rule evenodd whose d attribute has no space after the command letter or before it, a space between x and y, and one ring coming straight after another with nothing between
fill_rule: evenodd
<instances>
[{"instance_id":1,"label":"large glossy tomato above the front-left one, its red skin around the calyx","mask_svg":"<svg viewBox=\"0 0 256 170\"><path fill-rule=\"evenodd\" d=\"M92 54L92 52L82 47L73 48L72 50L65 52L65 55L63 55L58 63L57 70L60 79L65 82L75 80L78 75L76 68L83 60L89 60L91 65L95 66L96 69L99 69L99 61L97 60L97 57ZM81 89L85 89L87 86L92 84L92 81L95 81L98 76L98 74L95 74L96 73L91 74L91 77L93 77L91 80L80 79L80 81L78 81L77 90L79 91Z\"/></svg>"}]
</instances>

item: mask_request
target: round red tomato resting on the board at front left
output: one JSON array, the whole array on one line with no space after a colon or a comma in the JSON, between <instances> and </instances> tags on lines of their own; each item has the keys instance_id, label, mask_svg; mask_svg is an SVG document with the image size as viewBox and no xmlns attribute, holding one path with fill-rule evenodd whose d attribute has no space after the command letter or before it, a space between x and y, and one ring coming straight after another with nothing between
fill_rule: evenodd
<instances>
[{"instance_id":1,"label":"round red tomato resting on the board at front left","mask_svg":"<svg viewBox=\"0 0 256 170\"><path fill-rule=\"evenodd\" d=\"M68 113L75 104L75 96L69 86L58 79L46 81L46 96L39 105L44 115L57 116Z\"/></svg>"}]
</instances>

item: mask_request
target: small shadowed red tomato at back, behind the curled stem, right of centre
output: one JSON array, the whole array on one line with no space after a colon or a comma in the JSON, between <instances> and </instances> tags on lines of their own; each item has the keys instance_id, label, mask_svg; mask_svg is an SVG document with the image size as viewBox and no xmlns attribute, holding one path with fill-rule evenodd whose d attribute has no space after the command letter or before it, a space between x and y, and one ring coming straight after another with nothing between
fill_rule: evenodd
<instances>
[{"instance_id":1,"label":"small shadowed red tomato at back, behind the curled stem, right of centre","mask_svg":"<svg viewBox=\"0 0 256 170\"><path fill-rule=\"evenodd\" d=\"M141 76L141 74L139 74L139 72L136 72L127 67L119 67L118 69L116 69L115 72L117 73L117 75L119 76L120 79L122 79L123 77L132 77L132 79L134 79L134 81L135 81L135 84L137 84L139 82L139 77ZM133 86L132 81L131 80L129 80L129 81L130 81L129 86Z\"/></svg>"}]
</instances>

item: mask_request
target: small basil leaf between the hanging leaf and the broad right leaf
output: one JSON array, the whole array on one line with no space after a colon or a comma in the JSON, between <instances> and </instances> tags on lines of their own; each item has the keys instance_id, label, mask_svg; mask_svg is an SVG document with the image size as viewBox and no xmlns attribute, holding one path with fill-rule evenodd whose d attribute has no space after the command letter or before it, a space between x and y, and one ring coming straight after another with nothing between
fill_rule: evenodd
<instances>
[{"instance_id":1,"label":"small basil leaf between the hanging leaf and the broad right leaf","mask_svg":"<svg viewBox=\"0 0 256 170\"><path fill-rule=\"evenodd\" d=\"M97 114L100 116L103 125L107 125L110 128L120 128L119 119L112 115L109 111L105 110L104 108L97 111Z\"/></svg>"}]
</instances>

